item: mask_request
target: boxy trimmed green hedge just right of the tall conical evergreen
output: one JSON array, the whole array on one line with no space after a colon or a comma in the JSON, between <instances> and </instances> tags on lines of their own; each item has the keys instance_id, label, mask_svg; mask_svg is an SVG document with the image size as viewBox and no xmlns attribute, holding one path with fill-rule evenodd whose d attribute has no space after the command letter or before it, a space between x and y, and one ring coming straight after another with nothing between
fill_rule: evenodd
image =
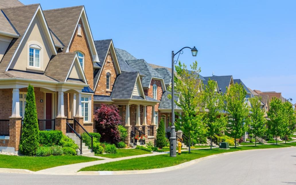
<instances>
[{"instance_id":1,"label":"boxy trimmed green hedge just right of the tall conical evergreen","mask_svg":"<svg viewBox=\"0 0 296 185\"><path fill-rule=\"evenodd\" d=\"M62 131L39 131L39 144L47 147L61 145L62 137Z\"/></svg>"}]
</instances>

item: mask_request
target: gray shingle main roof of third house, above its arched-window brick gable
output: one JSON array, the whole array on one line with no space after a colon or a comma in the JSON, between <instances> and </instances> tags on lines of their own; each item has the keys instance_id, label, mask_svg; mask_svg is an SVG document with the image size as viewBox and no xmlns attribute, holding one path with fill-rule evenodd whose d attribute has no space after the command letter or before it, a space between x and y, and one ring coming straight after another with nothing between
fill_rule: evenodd
<instances>
[{"instance_id":1,"label":"gray shingle main roof of third house, above its arched-window brick gable","mask_svg":"<svg viewBox=\"0 0 296 185\"><path fill-rule=\"evenodd\" d=\"M142 86L149 87L152 77L163 78L144 59L127 60L128 65L146 75L142 78Z\"/></svg>"}]
</instances>

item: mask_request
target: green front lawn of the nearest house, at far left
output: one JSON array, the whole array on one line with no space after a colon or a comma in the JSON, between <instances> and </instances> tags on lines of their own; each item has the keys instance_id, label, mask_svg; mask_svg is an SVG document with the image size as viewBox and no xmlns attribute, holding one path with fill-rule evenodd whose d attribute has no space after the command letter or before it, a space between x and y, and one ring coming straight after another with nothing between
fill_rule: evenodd
<instances>
[{"instance_id":1,"label":"green front lawn of the nearest house, at far left","mask_svg":"<svg viewBox=\"0 0 296 185\"><path fill-rule=\"evenodd\" d=\"M0 155L0 168L17 168L31 171L43 170L55 166L84 163L99 160L92 157L83 156L48 156L48 157L29 157L29 156L9 156Z\"/></svg>"}]
</instances>

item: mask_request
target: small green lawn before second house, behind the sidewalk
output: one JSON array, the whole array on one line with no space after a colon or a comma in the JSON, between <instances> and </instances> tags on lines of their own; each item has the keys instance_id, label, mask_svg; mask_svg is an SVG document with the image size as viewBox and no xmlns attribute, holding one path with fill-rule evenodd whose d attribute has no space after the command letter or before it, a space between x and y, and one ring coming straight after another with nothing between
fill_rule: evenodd
<instances>
[{"instance_id":1,"label":"small green lawn before second house, behind the sidewalk","mask_svg":"<svg viewBox=\"0 0 296 185\"><path fill-rule=\"evenodd\" d=\"M117 149L116 154L96 154L96 156L118 158L118 157L127 157L127 156L142 155L142 154L151 154L151 152L147 152L145 150L140 150L140 149Z\"/></svg>"}]
</instances>

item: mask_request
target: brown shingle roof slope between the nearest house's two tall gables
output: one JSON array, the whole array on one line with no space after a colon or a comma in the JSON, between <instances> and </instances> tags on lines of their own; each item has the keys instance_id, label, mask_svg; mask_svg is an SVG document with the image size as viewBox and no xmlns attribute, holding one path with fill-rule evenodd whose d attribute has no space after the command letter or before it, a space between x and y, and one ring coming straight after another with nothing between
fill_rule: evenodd
<instances>
[{"instance_id":1,"label":"brown shingle roof slope between the nearest house's two tall gables","mask_svg":"<svg viewBox=\"0 0 296 185\"><path fill-rule=\"evenodd\" d=\"M83 6L44 10L49 28L68 47ZM63 50L66 52L66 50Z\"/></svg>"}]
</instances>

